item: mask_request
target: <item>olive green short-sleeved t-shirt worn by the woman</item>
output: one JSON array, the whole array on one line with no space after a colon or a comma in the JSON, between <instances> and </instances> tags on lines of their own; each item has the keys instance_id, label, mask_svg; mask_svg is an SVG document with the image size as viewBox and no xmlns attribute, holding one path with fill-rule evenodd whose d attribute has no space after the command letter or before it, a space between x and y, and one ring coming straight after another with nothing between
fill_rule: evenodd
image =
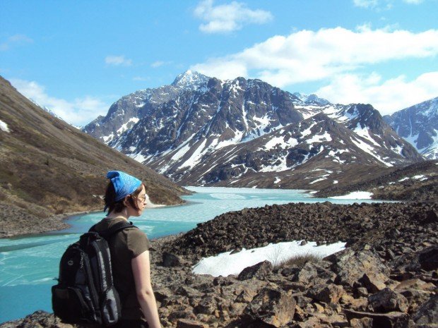
<instances>
[{"instance_id":1,"label":"olive green short-sleeved t-shirt worn by the woman","mask_svg":"<svg viewBox=\"0 0 438 328\"><path fill-rule=\"evenodd\" d=\"M97 232L105 231L114 224L124 221L123 218L102 219L95 225ZM132 273L131 260L146 250L150 243L146 234L137 228L126 228L115 233L108 241L111 253L112 275L114 286L119 292L122 302L122 319L137 320L143 316L137 300L134 274Z\"/></svg>"}]
</instances>

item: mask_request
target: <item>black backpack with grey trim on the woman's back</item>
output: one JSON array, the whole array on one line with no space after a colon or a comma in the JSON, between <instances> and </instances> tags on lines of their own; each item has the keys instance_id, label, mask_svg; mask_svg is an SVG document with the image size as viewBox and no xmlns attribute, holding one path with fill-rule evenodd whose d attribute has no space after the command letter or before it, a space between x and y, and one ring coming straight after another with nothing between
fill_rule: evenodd
<instances>
[{"instance_id":1,"label":"black backpack with grey trim on the woman's back","mask_svg":"<svg viewBox=\"0 0 438 328\"><path fill-rule=\"evenodd\" d=\"M64 322L110 326L120 318L119 293L112 281L111 255L107 241L118 231L135 227L130 222L114 224L101 233L95 226L69 245L59 263L58 284L52 286L54 315Z\"/></svg>"}]
</instances>

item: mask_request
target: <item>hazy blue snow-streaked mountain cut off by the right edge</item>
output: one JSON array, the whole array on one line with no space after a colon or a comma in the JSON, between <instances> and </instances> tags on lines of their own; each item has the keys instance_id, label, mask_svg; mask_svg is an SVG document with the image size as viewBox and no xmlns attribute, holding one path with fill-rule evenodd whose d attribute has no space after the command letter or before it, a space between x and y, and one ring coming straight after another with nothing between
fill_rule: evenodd
<instances>
[{"instance_id":1,"label":"hazy blue snow-streaked mountain cut off by the right edge","mask_svg":"<svg viewBox=\"0 0 438 328\"><path fill-rule=\"evenodd\" d=\"M438 97L384 116L427 159L438 159Z\"/></svg>"}]
</instances>

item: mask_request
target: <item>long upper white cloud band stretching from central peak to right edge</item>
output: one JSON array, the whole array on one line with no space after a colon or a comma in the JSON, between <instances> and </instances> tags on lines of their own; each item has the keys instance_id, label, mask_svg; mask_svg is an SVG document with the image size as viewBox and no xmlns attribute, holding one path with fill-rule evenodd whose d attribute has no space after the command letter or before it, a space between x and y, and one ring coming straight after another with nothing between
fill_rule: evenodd
<instances>
[{"instance_id":1,"label":"long upper white cloud band stretching from central peak to right edge","mask_svg":"<svg viewBox=\"0 0 438 328\"><path fill-rule=\"evenodd\" d=\"M369 64L438 54L438 30L345 28L301 30L274 36L236 54L191 67L217 78L261 78L278 87L323 80Z\"/></svg>"}]
</instances>

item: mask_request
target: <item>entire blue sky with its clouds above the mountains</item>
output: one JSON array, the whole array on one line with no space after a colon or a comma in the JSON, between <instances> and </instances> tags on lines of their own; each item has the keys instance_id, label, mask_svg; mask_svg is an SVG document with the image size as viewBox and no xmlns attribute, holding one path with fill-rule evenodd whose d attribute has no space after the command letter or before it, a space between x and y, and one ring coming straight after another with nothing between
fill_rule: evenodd
<instances>
[{"instance_id":1,"label":"entire blue sky with its clouds above the mountains","mask_svg":"<svg viewBox=\"0 0 438 328\"><path fill-rule=\"evenodd\" d=\"M69 123L188 69L389 114L438 96L438 0L0 0L0 75Z\"/></svg>"}]
</instances>

